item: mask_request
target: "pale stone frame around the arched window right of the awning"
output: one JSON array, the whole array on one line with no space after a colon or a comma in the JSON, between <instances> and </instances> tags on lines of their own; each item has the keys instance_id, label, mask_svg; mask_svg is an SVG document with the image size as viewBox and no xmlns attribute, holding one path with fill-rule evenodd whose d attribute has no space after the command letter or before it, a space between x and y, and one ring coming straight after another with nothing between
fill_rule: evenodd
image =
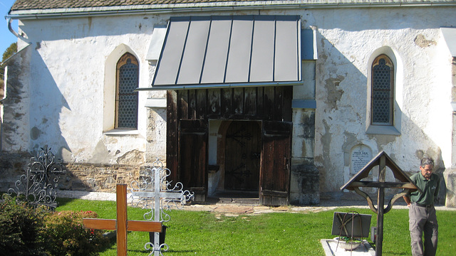
<instances>
[{"instance_id":1,"label":"pale stone frame around the arched window right of the awning","mask_svg":"<svg viewBox=\"0 0 456 256\"><path fill-rule=\"evenodd\" d=\"M372 90L373 90L373 67L375 61L379 60L381 56L386 56L390 60L390 65L393 66L392 74L392 97L391 97L391 122L390 124L376 124L372 122ZM403 64L399 55L395 50L388 46L378 48L373 52L368 61L368 83L367 83L367 105L366 105L366 134L385 134L400 136L400 126L402 117L402 98L403 95Z\"/></svg>"}]
</instances>

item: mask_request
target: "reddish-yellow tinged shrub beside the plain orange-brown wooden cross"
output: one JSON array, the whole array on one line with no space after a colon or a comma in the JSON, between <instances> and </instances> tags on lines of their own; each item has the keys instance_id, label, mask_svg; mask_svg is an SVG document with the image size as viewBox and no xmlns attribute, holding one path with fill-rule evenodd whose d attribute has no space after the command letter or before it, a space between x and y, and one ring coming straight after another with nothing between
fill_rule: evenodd
<instances>
[{"instance_id":1,"label":"reddish-yellow tinged shrub beside the plain orange-brown wooden cross","mask_svg":"<svg viewBox=\"0 0 456 256\"><path fill-rule=\"evenodd\" d=\"M49 255L98 255L108 245L101 230L83 227L83 218L97 218L93 211L65 210L45 217L46 249Z\"/></svg>"}]
</instances>

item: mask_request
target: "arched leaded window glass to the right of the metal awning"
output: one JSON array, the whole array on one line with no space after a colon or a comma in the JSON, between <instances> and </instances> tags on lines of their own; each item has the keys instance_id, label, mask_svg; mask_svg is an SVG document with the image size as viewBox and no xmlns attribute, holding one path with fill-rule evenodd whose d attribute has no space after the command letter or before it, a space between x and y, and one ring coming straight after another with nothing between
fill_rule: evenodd
<instances>
[{"instance_id":1,"label":"arched leaded window glass to the right of the metal awning","mask_svg":"<svg viewBox=\"0 0 456 256\"><path fill-rule=\"evenodd\" d=\"M371 123L393 125L394 65L387 55L372 64Z\"/></svg>"}]
</instances>

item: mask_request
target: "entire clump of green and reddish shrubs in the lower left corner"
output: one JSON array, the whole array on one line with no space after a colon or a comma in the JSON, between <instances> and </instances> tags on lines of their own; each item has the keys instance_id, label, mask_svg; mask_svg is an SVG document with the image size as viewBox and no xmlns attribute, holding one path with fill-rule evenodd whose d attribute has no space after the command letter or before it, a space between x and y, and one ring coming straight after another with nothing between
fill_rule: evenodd
<instances>
[{"instance_id":1,"label":"entire clump of green and reddish shrubs in the lower left corner","mask_svg":"<svg viewBox=\"0 0 456 256\"><path fill-rule=\"evenodd\" d=\"M103 231L83 228L92 211L49 213L10 196L0 203L0 255L92 256L109 244Z\"/></svg>"}]
</instances>

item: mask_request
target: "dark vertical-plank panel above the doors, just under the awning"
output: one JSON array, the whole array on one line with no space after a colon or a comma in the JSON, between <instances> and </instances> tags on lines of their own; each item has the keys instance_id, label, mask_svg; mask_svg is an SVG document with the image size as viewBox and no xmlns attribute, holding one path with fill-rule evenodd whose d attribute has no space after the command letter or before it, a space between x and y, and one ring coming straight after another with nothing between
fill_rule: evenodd
<instances>
[{"instance_id":1,"label":"dark vertical-plank panel above the doors, just under the awning","mask_svg":"<svg viewBox=\"0 0 456 256\"><path fill-rule=\"evenodd\" d=\"M293 87L235 87L177 91L180 119L291 121Z\"/></svg>"}]
</instances>

